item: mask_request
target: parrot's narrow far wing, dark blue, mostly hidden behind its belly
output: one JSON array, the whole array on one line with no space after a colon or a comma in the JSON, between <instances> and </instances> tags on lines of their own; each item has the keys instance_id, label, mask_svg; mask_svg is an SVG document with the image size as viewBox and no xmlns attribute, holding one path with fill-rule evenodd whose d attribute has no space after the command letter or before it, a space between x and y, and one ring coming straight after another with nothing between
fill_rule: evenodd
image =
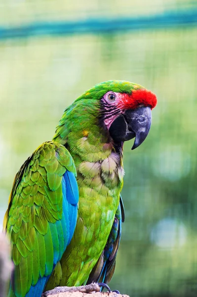
<instances>
[{"instance_id":1,"label":"parrot's narrow far wing, dark blue, mostly hidden behind its belly","mask_svg":"<svg viewBox=\"0 0 197 297\"><path fill-rule=\"evenodd\" d=\"M121 223L124 222L124 206L122 198L115 215L112 230L110 232L107 244L101 253L96 265L91 271L87 284L92 282L101 282L108 284L114 274L116 266L116 256L121 236Z\"/></svg>"}]
</instances>

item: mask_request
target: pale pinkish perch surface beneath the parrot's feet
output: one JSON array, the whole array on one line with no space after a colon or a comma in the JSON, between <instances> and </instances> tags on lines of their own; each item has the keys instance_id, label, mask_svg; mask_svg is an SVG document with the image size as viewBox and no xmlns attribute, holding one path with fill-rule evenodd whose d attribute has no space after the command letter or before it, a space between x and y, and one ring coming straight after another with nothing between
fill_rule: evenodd
<instances>
[{"instance_id":1,"label":"pale pinkish perch surface beneath the parrot's feet","mask_svg":"<svg viewBox=\"0 0 197 297\"><path fill-rule=\"evenodd\" d=\"M111 293L101 293L101 292L92 292L92 293L81 293L81 292L65 292L58 293L54 295L48 295L48 297L129 297L128 295L121 295L115 292Z\"/></svg>"}]
</instances>

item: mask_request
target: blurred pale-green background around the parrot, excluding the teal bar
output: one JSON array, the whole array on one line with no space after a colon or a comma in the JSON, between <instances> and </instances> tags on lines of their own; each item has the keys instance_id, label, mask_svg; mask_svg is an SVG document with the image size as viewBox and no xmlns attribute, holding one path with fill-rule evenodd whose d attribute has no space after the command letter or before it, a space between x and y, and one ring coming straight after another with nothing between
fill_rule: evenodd
<instances>
[{"instance_id":1,"label":"blurred pale-green background around the parrot, excluding the teal bar","mask_svg":"<svg viewBox=\"0 0 197 297\"><path fill-rule=\"evenodd\" d=\"M187 0L7 0L0 26L177 13ZM125 222L111 289L197 296L197 26L0 40L0 225L16 172L51 140L66 106L101 81L158 97L142 146L124 146ZM0 226L1 227L1 226Z\"/></svg>"}]
</instances>

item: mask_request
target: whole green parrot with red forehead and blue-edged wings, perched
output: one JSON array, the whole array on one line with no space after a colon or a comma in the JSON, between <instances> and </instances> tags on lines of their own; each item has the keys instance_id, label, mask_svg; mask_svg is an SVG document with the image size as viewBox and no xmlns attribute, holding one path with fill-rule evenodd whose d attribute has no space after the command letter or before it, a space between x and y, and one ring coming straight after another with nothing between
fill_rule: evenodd
<instances>
[{"instance_id":1,"label":"whole green parrot with red forehead and blue-edged wings, perched","mask_svg":"<svg viewBox=\"0 0 197 297\"><path fill-rule=\"evenodd\" d=\"M110 282L124 221L123 144L142 144L156 104L141 85L99 83L24 162L3 220L14 265L8 297Z\"/></svg>"}]
</instances>

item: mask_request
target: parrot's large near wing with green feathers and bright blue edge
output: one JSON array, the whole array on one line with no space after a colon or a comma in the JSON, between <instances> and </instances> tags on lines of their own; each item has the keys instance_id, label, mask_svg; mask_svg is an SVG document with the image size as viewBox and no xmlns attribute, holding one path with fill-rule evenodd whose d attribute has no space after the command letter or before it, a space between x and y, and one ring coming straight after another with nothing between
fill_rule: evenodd
<instances>
[{"instance_id":1,"label":"parrot's large near wing with green feathers and bright blue edge","mask_svg":"<svg viewBox=\"0 0 197 297\"><path fill-rule=\"evenodd\" d=\"M55 142L43 143L17 173L4 218L15 265L9 296L41 296L70 243L79 201L75 174L69 151Z\"/></svg>"}]
</instances>

